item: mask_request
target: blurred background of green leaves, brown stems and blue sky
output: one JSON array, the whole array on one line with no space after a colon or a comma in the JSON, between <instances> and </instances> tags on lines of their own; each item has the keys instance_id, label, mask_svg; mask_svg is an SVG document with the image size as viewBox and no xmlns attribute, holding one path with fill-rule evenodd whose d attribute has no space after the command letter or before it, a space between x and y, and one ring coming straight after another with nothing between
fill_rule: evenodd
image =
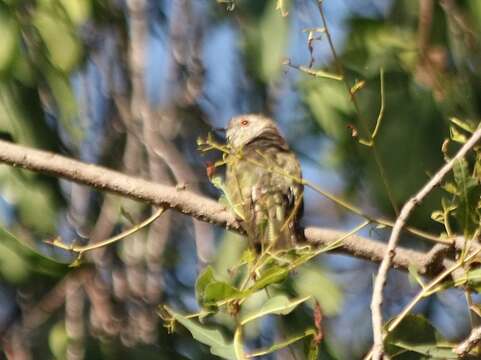
<instances>
[{"instance_id":1,"label":"blurred background of green leaves, brown stems and blue sky","mask_svg":"<svg viewBox=\"0 0 481 360\"><path fill-rule=\"evenodd\" d=\"M449 118L479 119L481 3L325 0L337 60L322 32L314 32L309 49L309 29L322 27L317 3L283 3L286 17L274 0L0 0L0 134L216 197L195 139L235 114L263 112L279 121L306 178L370 214L394 217L393 205L442 164ZM314 59L313 69L331 73L342 67L349 87L364 81L358 109L346 84L288 67L285 59L305 67ZM375 126L381 68L385 112L376 149L394 204L373 149L353 137L354 129L368 138L365 128ZM11 358L212 358L183 329L167 335L156 309L168 303L195 311L199 268L210 261L228 277L241 240L172 213L68 268L58 262L70 255L42 240L98 241L149 209L7 166L0 167L0 191L0 333ZM439 193L431 195L412 224L441 232L429 217L439 201ZM350 229L358 221L306 191L305 224ZM386 238L382 229L364 235ZM368 350L375 268L326 255L292 277L292 291L311 292L327 316L322 358L360 358ZM392 272L387 313L397 313L414 291L404 274ZM417 310L451 340L468 331L458 291ZM301 328L311 312L288 321ZM275 326L251 329L252 346L269 344Z\"/></svg>"}]
</instances>

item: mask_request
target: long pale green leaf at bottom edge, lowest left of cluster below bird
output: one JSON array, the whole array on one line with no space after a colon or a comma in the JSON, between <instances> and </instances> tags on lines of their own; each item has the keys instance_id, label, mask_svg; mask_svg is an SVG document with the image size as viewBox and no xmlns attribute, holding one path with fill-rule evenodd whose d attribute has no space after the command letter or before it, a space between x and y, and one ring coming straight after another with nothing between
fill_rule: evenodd
<instances>
[{"instance_id":1,"label":"long pale green leaf at bottom edge, lowest left of cluster below bird","mask_svg":"<svg viewBox=\"0 0 481 360\"><path fill-rule=\"evenodd\" d=\"M174 312L170 308L166 307L165 309L173 319L190 331L194 339L209 346L212 354L223 359L236 359L233 343L226 341L220 330L203 326L194 320L190 320L185 316Z\"/></svg>"}]
</instances>

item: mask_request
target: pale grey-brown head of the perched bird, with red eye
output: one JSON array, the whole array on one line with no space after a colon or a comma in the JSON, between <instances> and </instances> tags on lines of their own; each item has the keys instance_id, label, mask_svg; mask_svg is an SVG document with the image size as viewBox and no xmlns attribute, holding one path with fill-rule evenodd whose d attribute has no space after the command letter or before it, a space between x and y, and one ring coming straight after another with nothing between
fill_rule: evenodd
<instances>
[{"instance_id":1,"label":"pale grey-brown head of the perched bird, with red eye","mask_svg":"<svg viewBox=\"0 0 481 360\"><path fill-rule=\"evenodd\" d=\"M232 118L226 133L227 143L233 149L240 149L264 135L281 137L279 128L272 119L257 114L239 115Z\"/></svg>"}]
</instances>

